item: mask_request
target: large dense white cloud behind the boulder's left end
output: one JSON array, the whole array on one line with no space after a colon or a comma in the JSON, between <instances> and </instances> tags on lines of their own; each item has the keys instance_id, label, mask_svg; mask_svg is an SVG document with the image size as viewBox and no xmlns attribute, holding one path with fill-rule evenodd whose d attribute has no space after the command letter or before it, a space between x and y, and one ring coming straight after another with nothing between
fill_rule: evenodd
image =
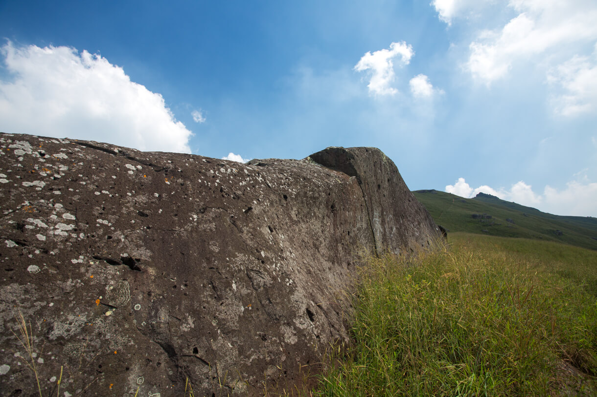
<instances>
[{"instance_id":1,"label":"large dense white cloud behind the boulder's left end","mask_svg":"<svg viewBox=\"0 0 597 397\"><path fill-rule=\"evenodd\" d=\"M139 150L190 153L192 136L162 95L131 82L122 67L66 46L0 49L0 128L13 134L93 139Z\"/></svg>"}]
</instances>

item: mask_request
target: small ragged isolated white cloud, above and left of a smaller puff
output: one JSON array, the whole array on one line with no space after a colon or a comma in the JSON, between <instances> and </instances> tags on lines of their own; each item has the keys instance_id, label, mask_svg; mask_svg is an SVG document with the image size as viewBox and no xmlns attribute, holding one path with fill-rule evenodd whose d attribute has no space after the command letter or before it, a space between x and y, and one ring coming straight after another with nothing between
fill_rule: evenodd
<instances>
[{"instance_id":1,"label":"small ragged isolated white cloud, above and left of a smaller puff","mask_svg":"<svg viewBox=\"0 0 597 397\"><path fill-rule=\"evenodd\" d=\"M399 64L404 66L410 63L413 55L413 46L410 44L406 44L404 41L392 43L390 49L380 49L373 52L373 54L367 51L354 69L357 72L371 70L371 79L367 85L371 94L394 95L398 90L390 86L395 79L392 58L399 56Z\"/></svg>"}]
</instances>

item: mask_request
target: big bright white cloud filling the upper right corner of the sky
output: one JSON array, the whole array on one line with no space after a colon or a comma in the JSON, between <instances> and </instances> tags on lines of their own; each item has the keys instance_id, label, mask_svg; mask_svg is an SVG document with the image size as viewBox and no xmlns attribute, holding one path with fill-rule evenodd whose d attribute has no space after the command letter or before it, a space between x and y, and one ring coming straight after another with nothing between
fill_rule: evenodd
<instances>
[{"instance_id":1,"label":"big bright white cloud filling the upper right corner of the sky","mask_svg":"<svg viewBox=\"0 0 597 397\"><path fill-rule=\"evenodd\" d=\"M553 63L571 45L597 40L595 1L510 0L508 7L518 15L501 29L479 33L469 46L466 69L488 85L518 63Z\"/></svg>"}]
</instances>

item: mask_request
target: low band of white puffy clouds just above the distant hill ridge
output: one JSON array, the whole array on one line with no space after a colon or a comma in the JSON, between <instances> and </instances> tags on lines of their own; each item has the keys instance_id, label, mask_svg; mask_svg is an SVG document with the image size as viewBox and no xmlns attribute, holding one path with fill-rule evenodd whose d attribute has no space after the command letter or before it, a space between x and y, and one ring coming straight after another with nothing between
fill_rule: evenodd
<instances>
[{"instance_id":1,"label":"low band of white puffy clouds just above the distant hill ridge","mask_svg":"<svg viewBox=\"0 0 597 397\"><path fill-rule=\"evenodd\" d=\"M543 194L538 194L523 181L516 182L509 189L496 190L487 185L473 189L464 178L458 178L454 185L447 185L445 191L465 198L475 197L478 193L492 194L502 200L557 215L597 216L597 183L594 182L572 181L562 190L547 185Z\"/></svg>"}]
</instances>

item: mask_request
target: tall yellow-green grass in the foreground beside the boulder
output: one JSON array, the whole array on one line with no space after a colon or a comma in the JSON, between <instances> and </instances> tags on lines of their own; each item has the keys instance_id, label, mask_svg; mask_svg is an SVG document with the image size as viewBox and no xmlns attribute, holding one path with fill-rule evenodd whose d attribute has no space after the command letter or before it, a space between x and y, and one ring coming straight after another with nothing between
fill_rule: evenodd
<instances>
[{"instance_id":1,"label":"tall yellow-green grass in the foreground beside the boulder","mask_svg":"<svg viewBox=\"0 0 597 397\"><path fill-rule=\"evenodd\" d=\"M367 259L353 344L315 394L597 393L597 298L583 284L595 253L473 234L450 243Z\"/></svg>"}]
</instances>

